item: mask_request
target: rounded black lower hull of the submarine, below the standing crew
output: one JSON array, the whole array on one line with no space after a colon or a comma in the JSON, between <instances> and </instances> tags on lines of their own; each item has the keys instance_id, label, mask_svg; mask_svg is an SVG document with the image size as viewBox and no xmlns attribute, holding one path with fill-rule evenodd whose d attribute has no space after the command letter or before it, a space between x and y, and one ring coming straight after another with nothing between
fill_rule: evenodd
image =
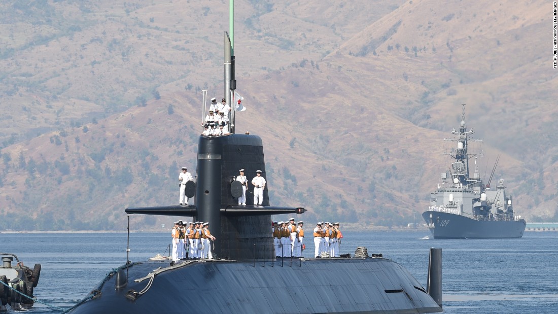
<instances>
[{"instance_id":1,"label":"rounded black lower hull of the submarine, below the standing crew","mask_svg":"<svg viewBox=\"0 0 558 314\"><path fill-rule=\"evenodd\" d=\"M148 273L157 270L152 281ZM442 309L401 265L384 258L284 259L255 263L185 260L131 264L116 272L73 314L435 313ZM135 279L144 278L141 282ZM150 283L151 282L151 283ZM120 284L122 286L122 284ZM145 293L126 297L130 291Z\"/></svg>"}]
</instances>

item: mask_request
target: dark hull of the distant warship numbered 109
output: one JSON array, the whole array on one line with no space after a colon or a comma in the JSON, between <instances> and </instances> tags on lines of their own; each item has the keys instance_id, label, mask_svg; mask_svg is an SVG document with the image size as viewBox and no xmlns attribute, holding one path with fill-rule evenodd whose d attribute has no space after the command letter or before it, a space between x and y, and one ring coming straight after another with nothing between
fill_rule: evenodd
<instances>
[{"instance_id":1,"label":"dark hull of the distant warship numbered 109","mask_svg":"<svg viewBox=\"0 0 558 314\"><path fill-rule=\"evenodd\" d=\"M430 219L432 215L432 219ZM425 211L422 218L432 221L430 233L434 239L510 239L521 238L525 220L492 221L475 220L449 212Z\"/></svg>"}]
</instances>

